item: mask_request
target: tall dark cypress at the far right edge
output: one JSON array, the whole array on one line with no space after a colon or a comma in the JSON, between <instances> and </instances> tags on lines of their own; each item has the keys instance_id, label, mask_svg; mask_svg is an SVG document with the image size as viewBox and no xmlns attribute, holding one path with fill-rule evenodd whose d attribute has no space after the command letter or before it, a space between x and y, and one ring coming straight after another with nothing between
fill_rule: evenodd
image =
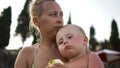
<instances>
[{"instance_id":1,"label":"tall dark cypress at the far right edge","mask_svg":"<svg viewBox=\"0 0 120 68\"><path fill-rule=\"evenodd\" d=\"M113 20L111 24L110 46L111 46L111 49L120 51L119 32L118 32L117 23L115 20Z\"/></svg>"}]
</instances>

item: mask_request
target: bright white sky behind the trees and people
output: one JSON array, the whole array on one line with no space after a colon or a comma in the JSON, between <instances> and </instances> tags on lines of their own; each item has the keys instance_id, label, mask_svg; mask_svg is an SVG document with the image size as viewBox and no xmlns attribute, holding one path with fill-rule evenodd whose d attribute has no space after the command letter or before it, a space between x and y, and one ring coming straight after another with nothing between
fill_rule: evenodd
<instances>
[{"instance_id":1,"label":"bright white sky behind the trees and people","mask_svg":"<svg viewBox=\"0 0 120 68\"><path fill-rule=\"evenodd\" d=\"M72 24L81 26L88 38L90 27L95 28L95 38L98 41L109 40L111 33L111 22L117 22L120 36L120 0L56 0L64 13L64 23L66 24L71 14ZM14 37L17 18L23 9L25 0L0 0L0 12L3 8L12 7L12 24L10 41L7 49L18 49L23 46L30 46L33 37L27 38L24 44L21 37Z\"/></svg>"}]
</instances>

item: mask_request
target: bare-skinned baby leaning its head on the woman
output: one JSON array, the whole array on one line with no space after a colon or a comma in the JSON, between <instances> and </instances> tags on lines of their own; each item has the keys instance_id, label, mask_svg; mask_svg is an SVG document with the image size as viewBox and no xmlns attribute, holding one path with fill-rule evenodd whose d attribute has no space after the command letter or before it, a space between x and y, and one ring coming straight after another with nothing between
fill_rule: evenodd
<instances>
[{"instance_id":1,"label":"bare-skinned baby leaning its head on the woman","mask_svg":"<svg viewBox=\"0 0 120 68\"><path fill-rule=\"evenodd\" d=\"M104 68L98 55L87 49L88 38L78 26L61 28L56 42L62 56L69 60L62 68ZM55 66L60 68L57 64Z\"/></svg>"}]
</instances>

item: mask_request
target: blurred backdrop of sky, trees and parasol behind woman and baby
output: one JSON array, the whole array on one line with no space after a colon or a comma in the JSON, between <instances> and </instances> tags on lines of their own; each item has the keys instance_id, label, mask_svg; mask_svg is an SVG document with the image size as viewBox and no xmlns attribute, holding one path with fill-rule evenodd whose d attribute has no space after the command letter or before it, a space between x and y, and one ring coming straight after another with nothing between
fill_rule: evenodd
<instances>
[{"instance_id":1,"label":"blurred backdrop of sky, trees and parasol behind woman and baby","mask_svg":"<svg viewBox=\"0 0 120 68\"><path fill-rule=\"evenodd\" d=\"M120 0L56 0L64 24L81 26L90 50L106 68L120 67ZM21 48L37 42L29 31L28 5L32 0L0 0L0 68L13 68Z\"/></svg>"}]
</instances>

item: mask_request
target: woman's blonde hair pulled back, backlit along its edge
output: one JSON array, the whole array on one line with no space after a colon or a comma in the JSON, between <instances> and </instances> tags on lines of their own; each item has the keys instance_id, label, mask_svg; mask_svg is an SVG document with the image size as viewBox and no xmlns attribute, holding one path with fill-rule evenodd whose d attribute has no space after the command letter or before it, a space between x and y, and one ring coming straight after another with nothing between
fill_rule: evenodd
<instances>
[{"instance_id":1,"label":"woman's blonde hair pulled back, backlit along its edge","mask_svg":"<svg viewBox=\"0 0 120 68\"><path fill-rule=\"evenodd\" d=\"M29 29L30 31L35 31L36 33L39 33L39 29L37 26L34 25L33 23L33 17L40 17L42 15L42 12L44 10L42 4L45 1L55 1L55 0L35 0L30 3L29 5L29 16L30 16L30 24L29 24Z\"/></svg>"}]
</instances>

